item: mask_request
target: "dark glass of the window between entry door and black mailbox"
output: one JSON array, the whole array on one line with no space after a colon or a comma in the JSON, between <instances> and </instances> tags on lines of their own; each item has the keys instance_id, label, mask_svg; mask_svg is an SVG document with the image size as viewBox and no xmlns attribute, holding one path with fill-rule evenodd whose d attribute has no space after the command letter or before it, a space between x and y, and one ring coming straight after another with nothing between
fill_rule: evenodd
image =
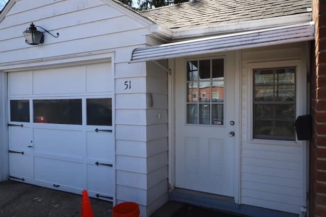
<instances>
[{"instance_id":1,"label":"dark glass of the window between entry door and black mailbox","mask_svg":"<svg viewBox=\"0 0 326 217\"><path fill-rule=\"evenodd\" d=\"M295 140L295 67L253 72L253 138Z\"/></svg>"}]
</instances>

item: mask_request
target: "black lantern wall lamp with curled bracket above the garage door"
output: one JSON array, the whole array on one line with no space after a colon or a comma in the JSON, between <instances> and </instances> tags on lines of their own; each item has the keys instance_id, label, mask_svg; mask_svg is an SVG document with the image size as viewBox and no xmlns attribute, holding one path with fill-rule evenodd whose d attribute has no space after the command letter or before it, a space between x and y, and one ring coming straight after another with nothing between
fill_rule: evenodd
<instances>
[{"instance_id":1,"label":"black lantern wall lamp with curled bracket above the garage door","mask_svg":"<svg viewBox=\"0 0 326 217\"><path fill-rule=\"evenodd\" d=\"M45 32L47 32L48 34L50 34L51 36L58 38L59 37L59 33L57 33L57 36L52 35L51 33L49 33L49 31L43 29L41 26L35 26L32 22L32 24L30 25L29 28L27 28L23 34L25 36L25 42L27 44L30 45L38 45L38 44L42 44L44 42L44 36L43 33L40 31L37 31L37 27L41 28L42 30L44 30Z\"/></svg>"}]
</instances>

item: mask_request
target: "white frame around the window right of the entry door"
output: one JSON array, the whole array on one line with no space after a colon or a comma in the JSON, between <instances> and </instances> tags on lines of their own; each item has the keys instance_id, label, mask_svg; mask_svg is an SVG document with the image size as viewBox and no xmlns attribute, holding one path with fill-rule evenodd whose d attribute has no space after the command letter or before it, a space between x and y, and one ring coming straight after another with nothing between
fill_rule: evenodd
<instances>
[{"instance_id":1,"label":"white frame around the window right of the entry door","mask_svg":"<svg viewBox=\"0 0 326 217\"><path fill-rule=\"evenodd\" d=\"M282 67L295 67L296 68L296 84L295 84L295 115L300 116L305 114L306 111L306 76L305 71L303 71L302 61L299 60L289 60L289 61L275 61L275 62L259 62L259 63L249 63L247 68L248 80L248 134L247 141L250 143L259 144L277 144L277 145L298 145L301 141L298 141L295 135L294 141L287 140L267 140L267 139L254 139L253 138L253 70L254 69L264 69L264 68L282 68ZM296 119L295 117L295 119Z\"/></svg>"}]
</instances>

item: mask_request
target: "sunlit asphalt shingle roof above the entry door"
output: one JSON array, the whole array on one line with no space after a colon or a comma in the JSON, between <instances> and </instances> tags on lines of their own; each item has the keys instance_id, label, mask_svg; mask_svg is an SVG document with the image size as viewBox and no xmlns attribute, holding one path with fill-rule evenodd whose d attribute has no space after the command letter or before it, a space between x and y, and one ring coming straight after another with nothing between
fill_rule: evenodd
<instances>
[{"instance_id":1,"label":"sunlit asphalt shingle roof above the entry door","mask_svg":"<svg viewBox=\"0 0 326 217\"><path fill-rule=\"evenodd\" d=\"M141 12L170 29L188 29L307 13L311 0L195 0Z\"/></svg>"}]
</instances>

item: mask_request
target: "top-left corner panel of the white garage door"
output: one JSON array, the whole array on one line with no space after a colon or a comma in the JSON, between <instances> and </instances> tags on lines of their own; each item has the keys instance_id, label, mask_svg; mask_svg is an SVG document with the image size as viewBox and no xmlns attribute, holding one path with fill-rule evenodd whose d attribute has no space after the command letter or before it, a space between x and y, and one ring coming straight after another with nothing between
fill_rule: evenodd
<instances>
[{"instance_id":1,"label":"top-left corner panel of the white garage door","mask_svg":"<svg viewBox=\"0 0 326 217\"><path fill-rule=\"evenodd\" d=\"M8 74L8 95L32 94L33 72L11 72Z\"/></svg>"}]
</instances>

